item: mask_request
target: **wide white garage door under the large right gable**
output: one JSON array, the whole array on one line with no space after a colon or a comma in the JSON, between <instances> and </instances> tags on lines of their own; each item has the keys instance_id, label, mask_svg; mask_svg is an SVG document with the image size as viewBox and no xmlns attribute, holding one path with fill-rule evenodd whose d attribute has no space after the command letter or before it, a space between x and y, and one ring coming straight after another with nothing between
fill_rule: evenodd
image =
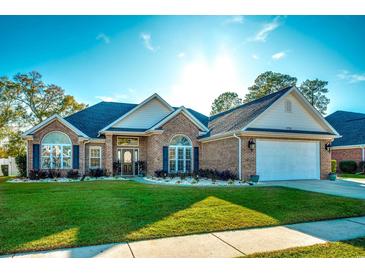
<instances>
[{"instance_id":1,"label":"wide white garage door under the large right gable","mask_svg":"<svg viewBox=\"0 0 365 274\"><path fill-rule=\"evenodd\" d=\"M319 142L256 141L260 181L319 179Z\"/></svg>"}]
</instances>

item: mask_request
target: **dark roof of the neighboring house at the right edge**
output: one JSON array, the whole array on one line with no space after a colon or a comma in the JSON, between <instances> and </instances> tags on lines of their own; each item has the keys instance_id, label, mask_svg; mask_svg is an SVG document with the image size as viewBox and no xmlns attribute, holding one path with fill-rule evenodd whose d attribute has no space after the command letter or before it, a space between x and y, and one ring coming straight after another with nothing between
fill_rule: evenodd
<instances>
[{"instance_id":1,"label":"dark roof of the neighboring house at the right edge","mask_svg":"<svg viewBox=\"0 0 365 274\"><path fill-rule=\"evenodd\" d=\"M365 114L339 110L326 120L342 136L333 141L333 146L365 144Z\"/></svg>"}]
</instances>

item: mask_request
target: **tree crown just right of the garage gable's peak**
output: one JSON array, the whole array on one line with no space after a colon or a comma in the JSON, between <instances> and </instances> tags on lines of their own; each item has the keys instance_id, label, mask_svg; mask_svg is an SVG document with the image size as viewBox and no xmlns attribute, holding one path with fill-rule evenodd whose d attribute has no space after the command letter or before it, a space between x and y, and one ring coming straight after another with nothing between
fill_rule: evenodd
<instances>
[{"instance_id":1,"label":"tree crown just right of the garage gable's peak","mask_svg":"<svg viewBox=\"0 0 365 274\"><path fill-rule=\"evenodd\" d=\"M327 105L330 102L330 99L325 95L328 93L327 85L327 81L315 79L305 80L299 87L300 92L308 99L309 103L323 115L326 114Z\"/></svg>"}]
</instances>

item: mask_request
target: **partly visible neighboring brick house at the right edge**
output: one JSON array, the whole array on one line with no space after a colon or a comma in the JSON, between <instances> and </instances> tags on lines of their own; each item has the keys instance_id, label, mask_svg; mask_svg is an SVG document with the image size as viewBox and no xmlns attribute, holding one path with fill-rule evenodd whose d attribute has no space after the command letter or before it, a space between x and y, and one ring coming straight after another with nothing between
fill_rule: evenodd
<instances>
[{"instance_id":1,"label":"partly visible neighboring brick house at the right edge","mask_svg":"<svg viewBox=\"0 0 365 274\"><path fill-rule=\"evenodd\" d=\"M336 111L326 120L342 136L332 143L332 159L337 164L343 160L365 161L365 114Z\"/></svg>"}]
</instances>

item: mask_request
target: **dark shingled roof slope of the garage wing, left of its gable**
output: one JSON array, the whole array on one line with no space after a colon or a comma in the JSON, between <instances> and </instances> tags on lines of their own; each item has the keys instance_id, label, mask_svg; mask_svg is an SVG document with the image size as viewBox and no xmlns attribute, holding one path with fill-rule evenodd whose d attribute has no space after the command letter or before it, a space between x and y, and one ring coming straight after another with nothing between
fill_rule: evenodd
<instances>
[{"instance_id":1,"label":"dark shingled roof slope of the garage wing, left of its gable","mask_svg":"<svg viewBox=\"0 0 365 274\"><path fill-rule=\"evenodd\" d=\"M211 116L209 119L210 131L201 138L244 128L291 88L292 86L284 88L255 101Z\"/></svg>"}]
</instances>

